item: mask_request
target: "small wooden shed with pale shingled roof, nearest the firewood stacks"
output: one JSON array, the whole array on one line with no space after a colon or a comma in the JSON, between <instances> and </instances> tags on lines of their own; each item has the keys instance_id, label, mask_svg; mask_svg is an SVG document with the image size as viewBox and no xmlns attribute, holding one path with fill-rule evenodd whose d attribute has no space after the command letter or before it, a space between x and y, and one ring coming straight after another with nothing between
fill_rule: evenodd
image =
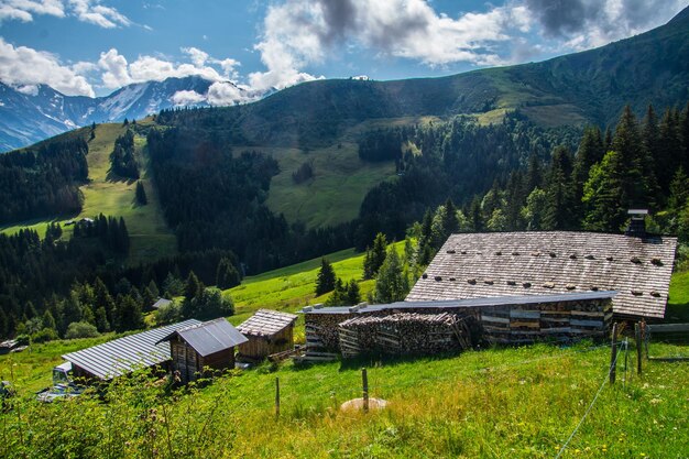
<instances>
[{"instance_id":1,"label":"small wooden shed with pale shingled roof, nearest the firewood stacks","mask_svg":"<svg viewBox=\"0 0 689 459\"><path fill-rule=\"evenodd\" d=\"M263 360L294 347L296 315L271 309L259 309L237 329L249 340L239 347L244 360Z\"/></svg>"}]
</instances>

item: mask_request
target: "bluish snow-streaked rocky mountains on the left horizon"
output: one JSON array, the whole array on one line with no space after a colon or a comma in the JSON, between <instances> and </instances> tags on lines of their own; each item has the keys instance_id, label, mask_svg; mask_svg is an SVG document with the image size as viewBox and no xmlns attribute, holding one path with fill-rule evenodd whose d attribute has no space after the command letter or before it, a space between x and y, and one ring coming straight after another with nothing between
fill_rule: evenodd
<instances>
[{"instance_id":1,"label":"bluish snow-streaked rocky mountains on the left horizon","mask_svg":"<svg viewBox=\"0 0 689 459\"><path fill-rule=\"evenodd\" d=\"M105 97L65 96L46 85L35 95L0 83L0 151L30 145L92 122L143 118L174 107L178 91L205 95L214 81L199 76L135 83ZM207 106L199 101L195 106Z\"/></svg>"}]
</instances>

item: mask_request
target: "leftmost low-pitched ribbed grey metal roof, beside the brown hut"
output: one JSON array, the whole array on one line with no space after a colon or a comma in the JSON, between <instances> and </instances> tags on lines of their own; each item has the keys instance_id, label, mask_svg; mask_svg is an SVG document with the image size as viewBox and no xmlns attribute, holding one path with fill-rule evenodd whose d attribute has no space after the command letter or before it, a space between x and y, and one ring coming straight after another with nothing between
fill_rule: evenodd
<instances>
[{"instance_id":1,"label":"leftmost low-pitched ribbed grey metal roof, beside the brown hut","mask_svg":"<svg viewBox=\"0 0 689 459\"><path fill-rule=\"evenodd\" d=\"M149 368L169 360L169 346L157 345L157 342L171 331L196 324L200 323L189 319L179 324L154 328L77 352L69 352L64 354L63 359L101 380L110 380L133 370Z\"/></svg>"}]
</instances>

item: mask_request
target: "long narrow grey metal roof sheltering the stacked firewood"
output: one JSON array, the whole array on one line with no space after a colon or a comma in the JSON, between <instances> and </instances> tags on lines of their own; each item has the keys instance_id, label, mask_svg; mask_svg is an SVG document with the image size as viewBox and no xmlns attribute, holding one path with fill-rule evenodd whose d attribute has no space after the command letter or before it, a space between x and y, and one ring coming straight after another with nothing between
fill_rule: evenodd
<instances>
[{"instance_id":1,"label":"long narrow grey metal roof sheltering the stacked firewood","mask_svg":"<svg viewBox=\"0 0 689 459\"><path fill-rule=\"evenodd\" d=\"M582 292L557 295L520 295L492 296L488 298L446 299L431 302L397 302L386 305L367 305L352 308L351 306L332 306L304 309L304 314L367 314L389 309L457 309L469 307L490 307L505 305L531 305L540 303L581 302L587 299L613 298L617 292Z\"/></svg>"}]
</instances>

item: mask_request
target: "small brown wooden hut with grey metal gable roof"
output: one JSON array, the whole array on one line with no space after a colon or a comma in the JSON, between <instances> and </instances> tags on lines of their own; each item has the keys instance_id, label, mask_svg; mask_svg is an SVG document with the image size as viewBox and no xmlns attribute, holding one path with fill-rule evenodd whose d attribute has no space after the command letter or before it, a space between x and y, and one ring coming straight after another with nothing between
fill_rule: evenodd
<instances>
[{"instance_id":1,"label":"small brown wooden hut with grey metal gable roof","mask_svg":"<svg viewBox=\"0 0 689 459\"><path fill-rule=\"evenodd\" d=\"M182 382L187 383L206 369L234 368L234 348L247 342L247 338L221 317L177 329L158 343L165 341L169 342L173 372L178 372Z\"/></svg>"}]
</instances>

